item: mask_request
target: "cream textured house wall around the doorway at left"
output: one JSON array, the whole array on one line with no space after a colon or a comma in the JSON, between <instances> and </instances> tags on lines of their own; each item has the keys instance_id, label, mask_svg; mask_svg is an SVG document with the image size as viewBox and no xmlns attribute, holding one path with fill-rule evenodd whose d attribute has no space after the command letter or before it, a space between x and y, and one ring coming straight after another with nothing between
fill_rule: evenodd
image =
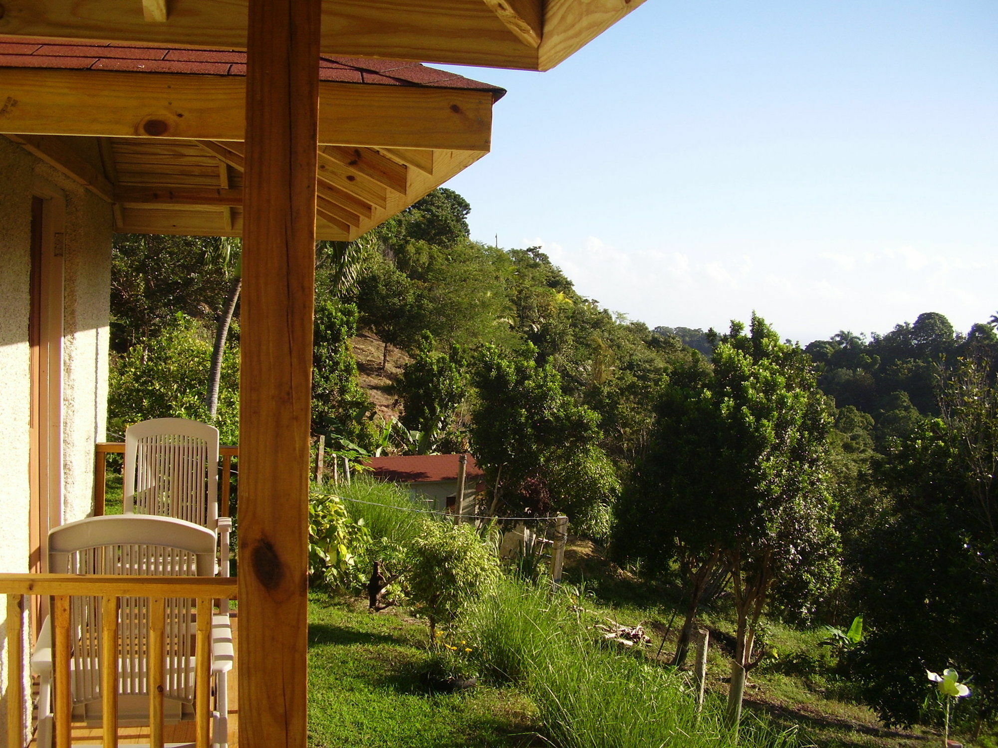
<instances>
[{"instance_id":1,"label":"cream textured house wall around the doorway at left","mask_svg":"<svg viewBox=\"0 0 998 748\"><path fill-rule=\"evenodd\" d=\"M93 161L93 153L81 155ZM0 136L0 571L28 570L31 400L28 317L31 197L36 181L65 195L63 502L65 522L92 507L94 444L104 439L108 386L111 205ZM6 693L6 606L0 609L0 684ZM6 699L0 735L6 734Z\"/></svg>"}]
</instances>

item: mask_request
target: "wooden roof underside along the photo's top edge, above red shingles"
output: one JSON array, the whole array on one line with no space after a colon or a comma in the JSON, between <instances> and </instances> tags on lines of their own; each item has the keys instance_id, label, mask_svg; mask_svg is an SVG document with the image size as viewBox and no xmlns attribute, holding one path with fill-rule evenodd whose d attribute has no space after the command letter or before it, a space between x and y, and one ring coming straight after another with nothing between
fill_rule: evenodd
<instances>
[{"instance_id":1,"label":"wooden roof underside along the photo's top edge, above red shingles","mask_svg":"<svg viewBox=\"0 0 998 748\"><path fill-rule=\"evenodd\" d=\"M0 34L245 49L247 2L170 0L169 16L150 22L150 9L161 3L154 15L166 16L163 0L4 0ZM325 0L321 49L346 57L548 70L642 2Z\"/></svg>"}]
</instances>

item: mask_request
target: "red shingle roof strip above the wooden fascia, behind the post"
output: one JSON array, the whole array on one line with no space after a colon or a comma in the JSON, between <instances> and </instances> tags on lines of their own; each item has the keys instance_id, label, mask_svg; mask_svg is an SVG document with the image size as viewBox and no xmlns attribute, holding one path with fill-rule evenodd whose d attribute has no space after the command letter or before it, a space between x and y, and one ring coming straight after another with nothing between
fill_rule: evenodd
<instances>
[{"instance_id":1,"label":"red shingle roof strip above the wooden fascia, behind the post","mask_svg":"<svg viewBox=\"0 0 998 748\"><path fill-rule=\"evenodd\" d=\"M245 76L246 59L246 52L228 50L80 44L56 39L27 42L25 37L0 35L0 68ZM362 57L323 56L319 61L319 80L489 91L495 101L506 93L496 86L418 63Z\"/></svg>"}]
</instances>

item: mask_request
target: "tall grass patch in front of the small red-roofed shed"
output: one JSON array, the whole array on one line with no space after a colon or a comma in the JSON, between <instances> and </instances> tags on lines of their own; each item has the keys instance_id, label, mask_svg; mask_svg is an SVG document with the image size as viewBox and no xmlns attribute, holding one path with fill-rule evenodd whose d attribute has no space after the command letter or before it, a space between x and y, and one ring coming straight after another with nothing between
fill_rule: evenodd
<instances>
[{"instance_id":1,"label":"tall grass patch in front of the small red-roofed shed","mask_svg":"<svg viewBox=\"0 0 998 748\"><path fill-rule=\"evenodd\" d=\"M424 509L424 506L416 504L407 489L366 476L355 476L349 485L327 485L319 491L345 499L343 504L350 517L363 520L372 538L383 538L402 546L407 546L416 537L419 520L427 517L411 511Z\"/></svg>"}]
</instances>

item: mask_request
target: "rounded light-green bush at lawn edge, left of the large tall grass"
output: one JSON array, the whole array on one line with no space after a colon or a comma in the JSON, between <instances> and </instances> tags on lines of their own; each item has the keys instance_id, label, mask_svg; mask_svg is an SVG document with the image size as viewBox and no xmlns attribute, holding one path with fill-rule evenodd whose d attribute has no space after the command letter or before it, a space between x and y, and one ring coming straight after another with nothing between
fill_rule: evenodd
<instances>
[{"instance_id":1,"label":"rounded light-green bush at lawn edge, left of the large tall grass","mask_svg":"<svg viewBox=\"0 0 998 748\"><path fill-rule=\"evenodd\" d=\"M499 576L499 561L470 525L424 520L409 557L409 596L429 621L431 638L438 623L453 622Z\"/></svg>"}]
</instances>

